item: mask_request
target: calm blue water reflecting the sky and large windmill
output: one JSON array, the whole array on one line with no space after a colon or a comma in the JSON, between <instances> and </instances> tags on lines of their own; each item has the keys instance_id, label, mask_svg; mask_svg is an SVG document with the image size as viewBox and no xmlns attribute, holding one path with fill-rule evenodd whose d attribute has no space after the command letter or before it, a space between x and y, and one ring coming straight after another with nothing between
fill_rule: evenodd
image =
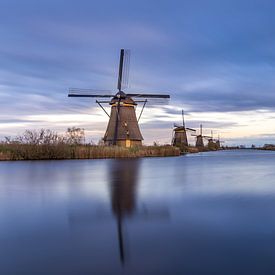
<instances>
[{"instance_id":1,"label":"calm blue water reflecting the sky and large windmill","mask_svg":"<svg viewBox=\"0 0 275 275\"><path fill-rule=\"evenodd\" d=\"M275 152L1 162L0 274L275 274Z\"/></svg>"}]
</instances>

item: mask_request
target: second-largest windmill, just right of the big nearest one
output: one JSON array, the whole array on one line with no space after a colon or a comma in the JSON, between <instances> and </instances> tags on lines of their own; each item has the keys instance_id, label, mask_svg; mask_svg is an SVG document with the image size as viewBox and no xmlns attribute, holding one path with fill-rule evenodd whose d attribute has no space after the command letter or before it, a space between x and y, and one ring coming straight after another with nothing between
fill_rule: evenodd
<instances>
[{"instance_id":1,"label":"second-largest windmill, just right of the big nearest one","mask_svg":"<svg viewBox=\"0 0 275 275\"><path fill-rule=\"evenodd\" d=\"M188 146L187 132L196 132L195 129L186 128L184 121L184 110L182 114L182 125L174 124L172 145L184 149Z\"/></svg>"}]
</instances>

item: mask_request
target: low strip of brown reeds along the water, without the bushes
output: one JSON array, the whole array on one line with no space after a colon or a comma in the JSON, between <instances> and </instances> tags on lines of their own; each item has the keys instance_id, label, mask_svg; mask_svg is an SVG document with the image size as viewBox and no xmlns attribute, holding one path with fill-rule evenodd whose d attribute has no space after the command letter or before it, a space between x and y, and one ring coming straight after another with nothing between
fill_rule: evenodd
<instances>
[{"instance_id":1,"label":"low strip of brown reeds along the water, without the bushes","mask_svg":"<svg viewBox=\"0 0 275 275\"><path fill-rule=\"evenodd\" d=\"M0 144L0 160L101 159L179 156L172 146L124 148L95 145Z\"/></svg>"}]
</instances>

